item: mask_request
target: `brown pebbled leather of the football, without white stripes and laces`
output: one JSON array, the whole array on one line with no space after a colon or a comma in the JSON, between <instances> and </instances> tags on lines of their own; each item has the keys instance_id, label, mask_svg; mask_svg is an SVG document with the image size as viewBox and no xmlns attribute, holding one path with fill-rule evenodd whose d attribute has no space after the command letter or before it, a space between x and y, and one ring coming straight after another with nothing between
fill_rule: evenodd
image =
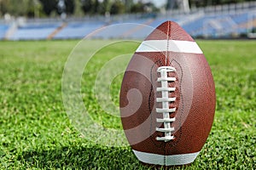
<instances>
[{"instance_id":1,"label":"brown pebbled leather of the football, without white stripes and laces","mask_svg":"<svg viewBox=\"0 0 256 170\"><path fill-rule=\"evenodd\" d=\"M194 42L172 21L156 28L146 41L164 39ZM164 156L195 153L205 144L212 127L216 104L212 72L204 54L167 51L136 52L133 55L123 78L119 105L120 108L132 107L131 101L137 100L137 95L130 95L130 99L127 95L134 88L142 95L142 103L134 113L120 109L123 128L133 150ZM173 66L177 70L169 75L177 78L168 84L170 88L176 88L169 96L176 97L176 100L170 102L169 107L177 110L170 113L170 117L176 117L172 122L175 139L168 142L156 140L157 136L164 135L155 130L155 127L163 127L162 123L156 122L156 118L162 115L155 111L160 107L155 102L161 95L156 92L160 87L160 82L157 82L157 68L160 66Z\"/></svg>"}]
</instances>

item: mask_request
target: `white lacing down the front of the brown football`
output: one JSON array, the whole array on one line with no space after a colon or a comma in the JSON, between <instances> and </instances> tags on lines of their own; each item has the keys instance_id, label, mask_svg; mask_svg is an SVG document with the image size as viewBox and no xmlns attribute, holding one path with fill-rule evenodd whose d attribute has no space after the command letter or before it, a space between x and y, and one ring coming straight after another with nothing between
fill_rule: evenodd
<instances>
[{"instance_id":1,"label":"white lacing down the front of the brown football","mask_svg":"<svg viewBox=\"0 0 256 170\"><path fill-rule=\"evenodd\" d=\"M157 79L157 82L161 82L161 87L156 88L157 92L161 92L162 97L156 98L156 102L162 103L162 108L156 108L157 113L161 113L163 118L157 118L156 122L163 122L164 128L156 127L156 131L165 133L164 137L157 137L157 140L165 140L168 142L174 139L172 135L172 131L174 131L174 127L171 127L171 122L175 121L175 117L170 118L170 113L175 112L176 108L169 108L169 102L173 102L176 98L169 98L169 93L174 92L175 88L169 88L168 82L175 82L175 77L168 77L168 72L176 71L172 66L160 66L157 69L160 72L160 77Z\"/></svg>"}]
</instances>

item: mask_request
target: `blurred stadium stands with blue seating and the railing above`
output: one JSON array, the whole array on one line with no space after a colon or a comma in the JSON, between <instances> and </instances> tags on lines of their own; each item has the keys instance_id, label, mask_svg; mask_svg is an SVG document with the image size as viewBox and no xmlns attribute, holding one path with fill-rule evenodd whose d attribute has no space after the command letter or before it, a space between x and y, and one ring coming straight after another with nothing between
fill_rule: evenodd
<instances>
[{"instance_id":1,"label":"blurred stadium stands with blue seating and the railing above","mask_svg":"<svg viewBox=\"0 0 256 170\"><path fill-rule=\"evenodd\" d=\"M135 23L156 27L164 20L173 20L183 26L192 37L201 38L253 38L256 27L255 2L218 5L207 8L192 8L187 11L167 10L164 14L123 14L113 17L88 17L58 19L2 20L0 39L5 40L46 40L79 39L104 26L122 23ZM132 35L129 31L134 30ZM97 38L135 38L143 39L149 32L143 26L115 32L114 35Z\"/></svg>"}]
</instances>

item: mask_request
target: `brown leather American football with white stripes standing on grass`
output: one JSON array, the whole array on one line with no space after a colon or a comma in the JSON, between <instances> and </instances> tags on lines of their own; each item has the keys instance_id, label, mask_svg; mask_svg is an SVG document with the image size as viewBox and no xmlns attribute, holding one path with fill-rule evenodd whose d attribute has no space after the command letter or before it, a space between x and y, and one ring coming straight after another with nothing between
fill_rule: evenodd
<instances>
[{"instance_id":1,"label":"brown leather American football with white stripes standing on grass","mask_svg":"<svg viewBox=\"0 0 256 170\"><path fill-rule=\"evenodd\" d=\"M139 161L160 166L193 162L210 133L215 88L207 59L177 23L158 26L125 71L120 114Z\"/></svg>"}]
</instances>

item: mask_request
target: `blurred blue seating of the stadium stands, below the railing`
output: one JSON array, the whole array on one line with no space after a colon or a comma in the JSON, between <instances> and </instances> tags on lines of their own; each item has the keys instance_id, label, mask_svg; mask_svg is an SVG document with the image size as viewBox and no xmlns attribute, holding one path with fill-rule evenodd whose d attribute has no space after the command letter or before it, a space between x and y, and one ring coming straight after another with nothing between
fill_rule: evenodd
<instances>
[{"instance_id":1,"label":"blurred blue seating of the stadium stands, below the railing","mask_svg":"<svg viewBox=\"0 0 256 170\"><path fill-rule=\"evenodd\" d=\"M40 22L27 20L25 24L0 23L0 39L44 40L91 38L141 39L162 22L174 20L192 37L229 37L247 33L256 21L254 9L235 14L183 14L177 17L137 18L132 20L68 20L66 22Z\"/></svg>"}]
</instances>

